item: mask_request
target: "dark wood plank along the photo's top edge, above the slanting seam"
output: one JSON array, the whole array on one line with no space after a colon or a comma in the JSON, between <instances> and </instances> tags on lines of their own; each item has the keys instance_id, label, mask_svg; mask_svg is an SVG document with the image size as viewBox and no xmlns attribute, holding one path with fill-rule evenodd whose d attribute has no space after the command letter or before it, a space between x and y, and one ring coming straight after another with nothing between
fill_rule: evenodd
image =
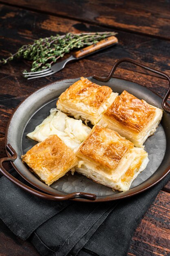
<instances>
[{"instance_id":1,"label":"dark wood plank along the photo's top edge, above the slanting seam","mask_svg":"<svg viewBox=\"0 0 170 256\"><path fill-rule=\"evenodd\" d=\"M105 27L170 39L169 0L2 0L6 4L70 17Z\"/></svg>"}]
</instances>

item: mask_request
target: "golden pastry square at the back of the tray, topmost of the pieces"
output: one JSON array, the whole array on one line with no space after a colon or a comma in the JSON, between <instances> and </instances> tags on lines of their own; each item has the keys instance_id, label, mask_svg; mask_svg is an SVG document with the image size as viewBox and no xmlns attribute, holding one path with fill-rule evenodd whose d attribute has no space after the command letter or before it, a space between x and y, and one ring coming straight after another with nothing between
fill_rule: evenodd
<instances>
[{"instance_id":1,"label":"golden pastry square at the back of the tray, topmost of the pieces","mask_svg":"<svg viewBox=\"0 0 170 256\"><path fill-rule=\"evenodd\" d=\"M60 95L57 108L76 119L96 124L117 95L110 87L97 85L81 77Z\"/></svg>"}]
</instances>

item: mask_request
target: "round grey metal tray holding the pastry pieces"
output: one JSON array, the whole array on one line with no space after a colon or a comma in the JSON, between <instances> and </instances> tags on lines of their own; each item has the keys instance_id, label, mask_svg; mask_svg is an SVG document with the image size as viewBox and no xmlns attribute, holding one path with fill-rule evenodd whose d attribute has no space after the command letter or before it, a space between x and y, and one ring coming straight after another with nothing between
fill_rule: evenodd
<instances>
[{"instance_id":1,"label":"round grey metal tray holding the pastry pieces","mask_svg":"<svg viewBox=\"0 0 170 256\"><path fill-rule=\"evenodd\" d=\"M116 78L112 78L106 83L92 77L88 79L99 85L108 85L113 92L119 94L123 90L127 90L137 98L144 99L151 105L161 108L161 98L137 83ZM29 171L27 166L22 163L21 155L37 142L26 137L26 134L33 131L35 126L49 115L50 109L56 107L56 100L60 94L77 80L79 79L68 79L49 84L31 94L15 110L7 126L6 144L11 144L18 154L18 158L12 163L18 173L33 186L51 195L66 195L72 192L95 193L97 198L91 202L117 200L141 193L165 177L170 171L170 114L167 112L164 112L155 135L149 137L144 144L150 161L146 169L132 182L128 191L113 191L77 173L74 175L69 173L51 186L47 186ZM90 202L83 198L74 200Z\"/></svg>"}]
</instances>

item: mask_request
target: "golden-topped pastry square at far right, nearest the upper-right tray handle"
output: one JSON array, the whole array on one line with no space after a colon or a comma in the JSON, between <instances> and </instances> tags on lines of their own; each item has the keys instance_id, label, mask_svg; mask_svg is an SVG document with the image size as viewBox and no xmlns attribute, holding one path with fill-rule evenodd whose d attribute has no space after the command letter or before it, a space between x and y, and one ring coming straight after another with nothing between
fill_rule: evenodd
<instances>
[{"instance_id":1,"label":"golden-topped pastry square at far right, nearest the upper-right tray handle","mask_svg":"<svg viewBox=\"0 0 170 256\"><path fill-rule=\"evenodd\" d=\"M102 116L99 125L117 131L141 147L159 125L163 110L124 91Z\"/></svg>"}]
</instances>

